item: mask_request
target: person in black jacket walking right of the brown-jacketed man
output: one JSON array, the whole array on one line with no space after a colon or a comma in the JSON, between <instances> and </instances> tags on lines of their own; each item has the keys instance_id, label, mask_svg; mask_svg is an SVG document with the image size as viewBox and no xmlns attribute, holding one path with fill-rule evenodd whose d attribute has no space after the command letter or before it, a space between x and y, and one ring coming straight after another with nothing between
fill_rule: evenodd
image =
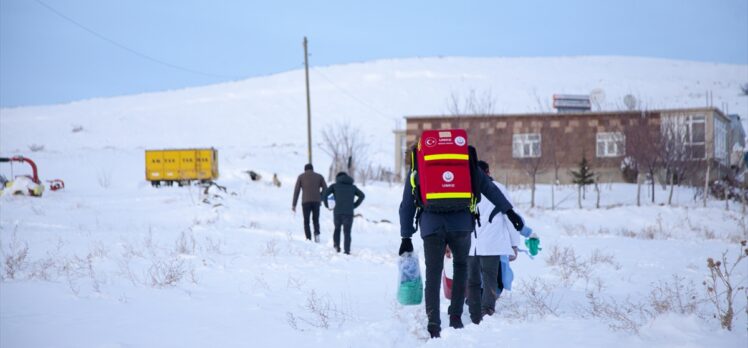
<instances>
[{"instance_id":1,"label":"person in black jacket walking right of the brown-jacketed man","mask_svg":"<svg viewBox=\"0 0 748 348\"><path fill-rule=\"evenodd\" d=\"M322 201L327 208L327 199L330 195L335 198L333 208L335 231L332 234L333 245L340 252L340 227L343 227L344 244L343 251L351 253L351 228L353 227L353 209L358 208L364 201L364 193L353 184L353 178L346 172L340 172L335 176L335 183L322 192ZM354 201L354 198L356 199Z\"/></svg>"}]
</instances>

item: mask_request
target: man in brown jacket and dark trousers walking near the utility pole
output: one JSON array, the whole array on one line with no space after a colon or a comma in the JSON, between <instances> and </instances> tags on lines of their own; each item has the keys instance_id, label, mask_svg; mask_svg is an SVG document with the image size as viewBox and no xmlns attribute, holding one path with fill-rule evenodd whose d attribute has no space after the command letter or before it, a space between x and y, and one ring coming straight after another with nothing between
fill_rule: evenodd
<instances>
[{"instance_id":1,"label":"man in brown jacket and dark trousers walking near the utility pole","mask_svg":"<svg viewBox=\"0 0 748 348\"><path fill-rule=\"evenodd\" d=\"M301 195L301 209L304 213L304 235L307 240L312 240L312 233L309 228L309 215L312 215L314 224L314 242L319 243L319 206L321 201L320 193L327 189L327 183L322 175L314 172L314 167L309 163L304 166L304 173L296 179L296 187L293 190L293 203L291 210L296 212L296 202L299 201L299 191L303 190Z\"/></svg>"}]
</instances>

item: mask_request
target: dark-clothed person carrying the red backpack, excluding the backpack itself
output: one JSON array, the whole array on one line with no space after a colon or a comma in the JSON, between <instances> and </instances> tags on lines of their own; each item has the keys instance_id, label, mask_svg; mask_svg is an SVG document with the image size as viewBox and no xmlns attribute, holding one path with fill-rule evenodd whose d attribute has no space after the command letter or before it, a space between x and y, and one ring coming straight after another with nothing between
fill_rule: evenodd
<instances>
[{"instance_id":1,"label":"dark-clothed person carrying the red backpack, excluding the backpack itself","mask_svg":"<svg viewBox=\"0 0 748 348\"><path fill-rule=\"evenodd\" d=\"M478 185L484 198L491 201L495 208L489 215L491 221L497 214L503 213L517 230L522 229L522 218L512 210L512 205L499 191L491 179L478 170ZM416 205L413 199L411 184L405 180L403 198L400 202L400 244L399 253L413 251L411 236L415 233L413 219ZM460 329L462 324L465 289L467 286L467 256L470 251L470 233L475 227L475 220L469 210L432 213L424 211L420 218L423 253L426 259L426 288L424 291L428 332L432 338L440 337L441 318L439 313L439 288L444 267L444 251L447 246L452 251L454 278L452 279L452 300L448 309L449 326Z\"/></svg>"}]
</instances>

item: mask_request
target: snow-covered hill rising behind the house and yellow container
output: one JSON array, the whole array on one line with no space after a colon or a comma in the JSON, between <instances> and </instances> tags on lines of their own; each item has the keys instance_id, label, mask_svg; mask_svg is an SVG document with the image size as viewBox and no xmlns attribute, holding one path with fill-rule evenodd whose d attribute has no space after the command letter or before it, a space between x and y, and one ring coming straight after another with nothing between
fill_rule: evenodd
<instances>
[{"instance_id":1,"label":"snow-covered hill rising behind the house and yellow container","mask_svg":"<svg viewBox=\"0 0 748 348\"><path fill-rule=\"evenodd\" d=\"M603 110L634 95L645 108L717 107L742 116L747 65L625 57L414 58L310 71L313 139L326 127L355 123L373 159L392 166L392 130L405 115L448 112L452 95L490 93L497 113L551 111L554 93L604 93ZM2 109L0 152L79 148L215 146L248 148L306 143L304 71L178 91L67 105ZM104 122L106 121L106 122ZM83 131L73 133L75 127ZM136 135L137 136L134 136Z\"/></svg>"}]
</instances>

